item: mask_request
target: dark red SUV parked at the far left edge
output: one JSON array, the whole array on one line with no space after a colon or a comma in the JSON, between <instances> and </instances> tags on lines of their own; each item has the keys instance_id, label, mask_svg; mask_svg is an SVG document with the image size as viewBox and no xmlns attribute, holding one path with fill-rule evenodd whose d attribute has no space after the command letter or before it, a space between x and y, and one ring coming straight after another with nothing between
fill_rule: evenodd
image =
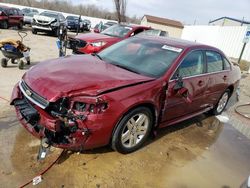
<instances>
[{"instance_id":1,"label":"dark red SUV parked at the far left edge","mask_svg":"<svg viewBox=\"0 0 250 188\"><path fill-rule=\"evenodd\" d=\"M23 13L18 8L11 8L0 5L0 26L8 29L12 26L23 28Z\"/></svg>"}]
</instances>

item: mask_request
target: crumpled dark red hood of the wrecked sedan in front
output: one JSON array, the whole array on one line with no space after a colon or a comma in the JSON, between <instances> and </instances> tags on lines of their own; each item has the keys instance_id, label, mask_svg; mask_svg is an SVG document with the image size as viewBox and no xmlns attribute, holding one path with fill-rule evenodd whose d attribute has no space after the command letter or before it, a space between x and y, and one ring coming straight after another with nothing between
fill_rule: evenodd
<instances>
[{"instance_id":1,"label":"crumpled dark red hood of the wrecked sedan in front","mask_svg":"<svg viewBox=\"0 0 250 188\"><path fill-rule=\"evenodd\" d=\"M23 76L37 94L54 102L61 97L97 96L153 80L101 61L92 55L75 55L41 62Z\"/></svg>"}]
</instances>

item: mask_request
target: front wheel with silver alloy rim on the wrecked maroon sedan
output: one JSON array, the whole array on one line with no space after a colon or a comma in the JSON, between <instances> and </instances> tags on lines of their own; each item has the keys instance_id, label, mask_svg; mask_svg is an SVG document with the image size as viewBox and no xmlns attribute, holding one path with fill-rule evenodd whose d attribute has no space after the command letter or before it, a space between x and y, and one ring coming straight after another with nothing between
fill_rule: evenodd
<instances>
[{"instance_id":1,"label":"front wheel with silver alloy rim on the wrecked maroon sedan","mask_svg":"<svg viewBox=\"0 0 250 188\"><path fill-rule=\"evenodd\" d=\"M149 137L152 126L153 115L149 108L131 110L118 123L112 136L112 148L123 154L138 150Z\"/></svg>"}]
</instances>

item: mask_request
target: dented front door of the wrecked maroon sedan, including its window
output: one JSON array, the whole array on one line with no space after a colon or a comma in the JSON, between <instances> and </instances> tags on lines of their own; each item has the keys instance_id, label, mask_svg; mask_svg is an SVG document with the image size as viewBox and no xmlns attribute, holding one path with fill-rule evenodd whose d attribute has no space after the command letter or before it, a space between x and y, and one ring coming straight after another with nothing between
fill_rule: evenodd
<instances>
[{"instance_id":1,"label":"dented front door of the wrecked maroon sedan, including its window","mask_svg":"<svg viewBox=\"0 0 250 188\"><path fill-rule=\"evenodd\" d=\"M200 110L207 105L205 94L208 87L208 76L205 73L205 58L202 50L191 51L184 57L174 76L168 83L166 108L163 121L169 121ZM191 101L185 101L174 90L177 76L182 77L184 87L188 90Z\"/></svg>"}]
</instances>

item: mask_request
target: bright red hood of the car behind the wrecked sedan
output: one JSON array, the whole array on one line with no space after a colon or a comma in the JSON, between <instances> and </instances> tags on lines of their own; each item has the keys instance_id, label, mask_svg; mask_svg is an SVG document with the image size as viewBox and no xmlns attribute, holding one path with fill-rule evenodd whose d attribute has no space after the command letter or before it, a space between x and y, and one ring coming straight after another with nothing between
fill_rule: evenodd
<instances>
[{"instance_id":1,"label":"bright red hood of the car behind the wrecked sedan","mask_svg":"<svg viewBox=\"0 0 250 188\"><path fill-rule=\"evenodd\" d=\"M77 35L75 37L76 39L84 40L84 41L110 41L110 40L117 40L117 37L112 37L108 35L104 35L101 33L86 33L86 34L81 34Z\"/></svg>"}]
</instances>

